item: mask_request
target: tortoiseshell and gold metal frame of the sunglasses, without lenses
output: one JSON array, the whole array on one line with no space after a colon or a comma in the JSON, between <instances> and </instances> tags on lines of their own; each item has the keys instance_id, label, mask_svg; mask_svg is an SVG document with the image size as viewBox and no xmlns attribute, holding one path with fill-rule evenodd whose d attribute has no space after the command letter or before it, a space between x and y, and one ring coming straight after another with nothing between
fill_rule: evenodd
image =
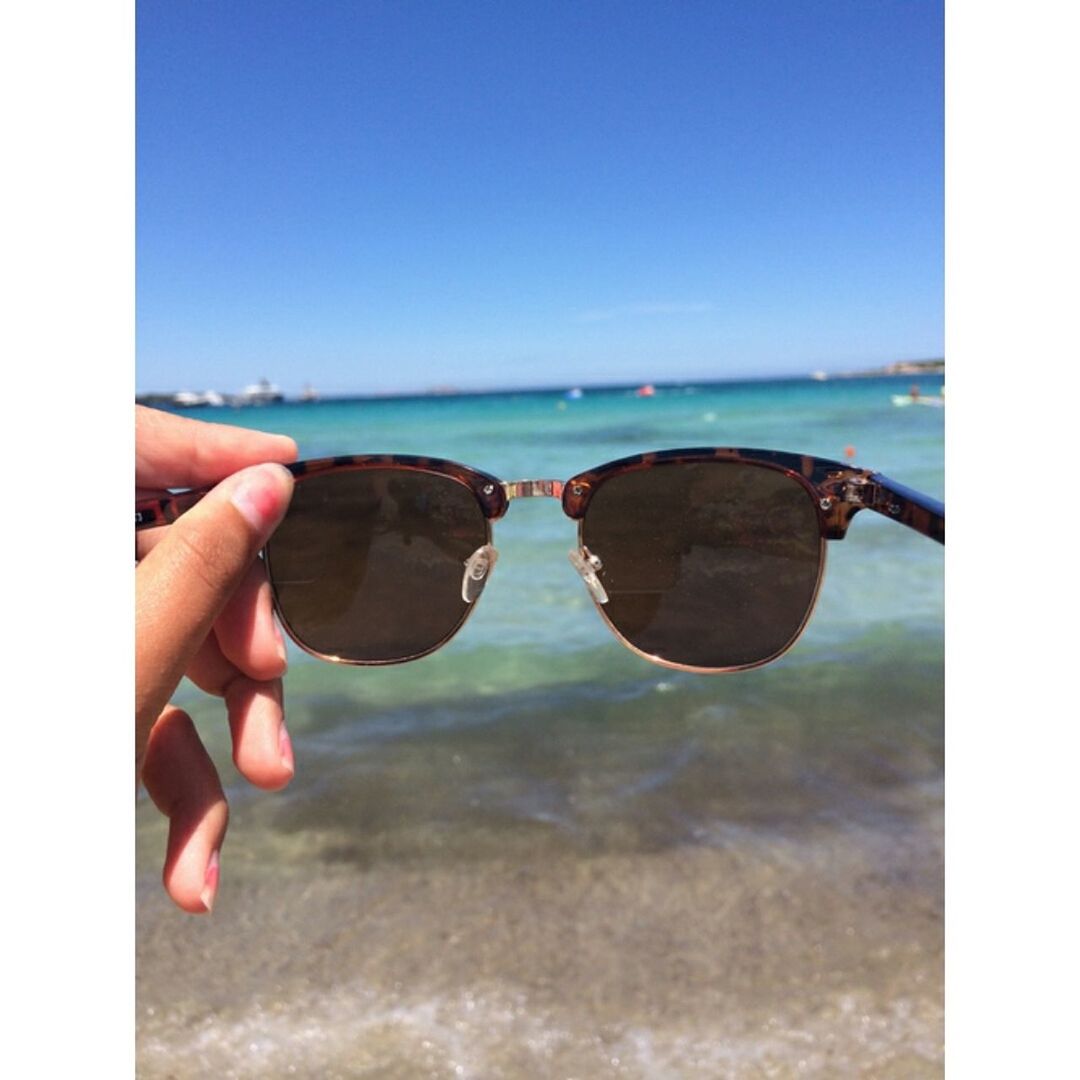
<instances>
[{"instance_id":1,"label":"tortoiseshell and gold metal frame of the sunglasses, without lenses","mask_svg":"<svg viewBox=\"0 0 1080 1080\"><path fill-rule=\"evenodd\" d=\"M698 447L691 449L656 450L649 454L636 454L631 457L620 458L598 465L585 472L578 473L568 481L557 480L524 480L524 481L500 481L490 473L463 465L456 461L447 461L442 458L416 457L413 455L399 454L361 454L345 455L333 458L319 458L309 461L297 461L285 465L293 474L297 483L302 483L306 478L319 476L332 472L350 472L369 469L401 469L417 472L436 473L449 477L468 487L476 498L484 516L488 522L488 543L490 543L491 523L501 518L509 509L510 502L517 498L549 497L559 499L563 511L568 517L577 521L579 550L581 549L581 523L589 509L589 503L596 490L612 476L626 472L652 469L658 465L669 465L676 463L700 463L705 461L729 461L744 462L756 468L767 468L782 472L789 476L801 487L813 500L818 523L821 530L821 538L825 540L841 540L847 535L851 518L861 510L873 510L886 517L900 522L908 528L921 535L945 543L945 507L936 499L912 490L903 484L890 480L881 473L868 469L860 469L854 465L845 464L840 461L833 461L827 458L813 457L807 454L791 454L782 450L761 450L743 448L715 448ZM146 528L154 528L161 525L168 525L175 522L185 511L190 510L200 499L213 489L213 485L194 488L189 491L180 491L167 495L162 498L144 499L135 503L135 528L136 531ZM822 551L821 566L819 570L818 585L820 588L821 578L824 575L824 550ZM588 570L582 570L583 577ZM586 584L592 584L586 578ZM626 648L637 653L652 663L664 667L673 667L679 671L691 671L702 673L723 673L730 671L743 671L751 667L759 667L762 664L775 660L786 652L788 648L799 638L806 624L809 622L816 603L818 591L815 589L813 600L807 610L798 631L784 648L775 654L762 660L741 664L730 667L698 667L669 661L659 657L650 656L632 645L620 633L603 609L602 602L597 599L595 592L593 599L599 610L604 621L608 624L615 635ZM276 606L276 595L275 595ZM467 612L471 613L475 607L475 602L470 604ZM289 636L296 644L310 652L312 656L323 660L338 663L350 663L361 665L373 665L378 663L402 663L407 660L419 659L428 656L441 648L450 640L465 622L465 618L448 634L443 640L433 645L430 649L418 652L416 656L404 657L391 661L356 661L341 657L329 657L316 652L297 639L288 625L284 613L279 609L279 617Z\"/></svg>"}]
</instances>

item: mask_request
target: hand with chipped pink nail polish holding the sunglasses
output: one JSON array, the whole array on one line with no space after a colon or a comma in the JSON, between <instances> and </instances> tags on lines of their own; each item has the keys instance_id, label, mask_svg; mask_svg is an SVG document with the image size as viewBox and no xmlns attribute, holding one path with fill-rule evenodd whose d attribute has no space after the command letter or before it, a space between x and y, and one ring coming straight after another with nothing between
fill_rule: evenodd
<instances>
[{"instance_id":1,"label":"hand with chipped pink nail polish holding the sunglasses","mask_svg":"<svg viewBox=\"0 0 1080 1080\"><path fill-rule=\"evenodd\" d=\"M135 408L136 499L221 481L174 524L137 535L135 769L168 818L164 885L208 912L228 807L191 718L168 704L184 675L225 699L239 771L268 791L293 777L281 676L285 644L255 556L284 516L296 444Z\"/></svg>"}]
</instances>

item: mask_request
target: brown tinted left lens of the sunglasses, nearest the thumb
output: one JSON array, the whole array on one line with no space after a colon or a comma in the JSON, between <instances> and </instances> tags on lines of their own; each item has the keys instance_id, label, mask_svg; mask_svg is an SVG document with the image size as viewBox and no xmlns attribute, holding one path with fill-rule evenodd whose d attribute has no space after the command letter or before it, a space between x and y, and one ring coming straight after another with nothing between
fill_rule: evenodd
<instances>
[{"instance_id":1,"label":"brown tinted left lens of the sunglasses, nearest the thumb","mask_svg":"<svg viewBox=\"0 0 1080 1080\"><path fill-rule=\"evenodd\" d=\"M487 538L476 496L449 476L341 470L297 480L266 558L300 644L388 663L430 652L461 625L464 565Z\"/></svg>"}]
</instances>

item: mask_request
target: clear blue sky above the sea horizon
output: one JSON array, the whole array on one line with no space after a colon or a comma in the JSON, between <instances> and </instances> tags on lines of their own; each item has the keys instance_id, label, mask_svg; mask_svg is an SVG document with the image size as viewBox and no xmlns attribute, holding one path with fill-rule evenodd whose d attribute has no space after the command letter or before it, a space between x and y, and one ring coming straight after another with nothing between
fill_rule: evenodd
<instances>
[{"instance_id":1,"label":"clear blue sky above the sea horizon","mask_svg":"<svg viewBox=\"0 0 1080 1080\"><path fill-rule=\"evenodd\" d=\"M933 2L139 0L140 391L937 356Z\"/></svg>"}]
</instances>

